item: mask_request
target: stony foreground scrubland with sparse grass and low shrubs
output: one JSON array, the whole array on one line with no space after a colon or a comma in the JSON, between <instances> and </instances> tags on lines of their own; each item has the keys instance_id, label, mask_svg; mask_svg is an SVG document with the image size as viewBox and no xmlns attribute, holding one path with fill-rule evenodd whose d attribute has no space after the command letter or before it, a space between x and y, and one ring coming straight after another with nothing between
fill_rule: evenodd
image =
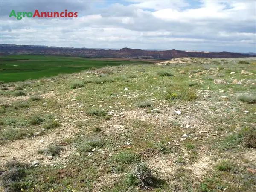
<instances>
[{"instance_id":1,"label":"stony foreground scrubland with sparse grass and low shrubs","mask_svg":"<svg viewBox=\"0 0 256 192\"><path fill-rule=\"evenodd\" d=\"M0 87L0 190L256 189L255 58L176 58Z\"/></svg>"}]
</instances>

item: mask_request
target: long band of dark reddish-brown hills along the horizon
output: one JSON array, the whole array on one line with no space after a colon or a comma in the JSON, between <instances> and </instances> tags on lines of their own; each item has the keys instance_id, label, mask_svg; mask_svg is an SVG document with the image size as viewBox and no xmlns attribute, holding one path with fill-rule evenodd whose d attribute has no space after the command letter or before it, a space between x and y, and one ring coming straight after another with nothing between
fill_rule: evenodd
<instances>
[{"instance_id":1,"label":"long band of dark reddish-brown hills along the horizon","mask_svg":"<svg viewBox=\"0 0 256 192\"><path fill-rule=\"evenodd\" d=\"M74 47L47 47L35 45L0 44L0 53L3 54L44 54L44 55L70 55L86 58L124 57L124 58L148 58L148 59L171 59L178 57L204 57L204 58L239 58L256 57L255 53L232 53L232 52L188 52L180 50L141 50L122 48L116 49L89 49Z\"/></svg>"}]
</instances>

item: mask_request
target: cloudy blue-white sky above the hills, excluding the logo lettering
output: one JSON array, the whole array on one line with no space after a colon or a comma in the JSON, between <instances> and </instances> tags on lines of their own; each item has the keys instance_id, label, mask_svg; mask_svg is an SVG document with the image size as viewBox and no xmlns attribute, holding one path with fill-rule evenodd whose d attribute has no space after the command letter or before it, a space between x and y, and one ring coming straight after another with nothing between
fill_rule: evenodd
<instances>
[{"instance_id":1,"label":"cloudy blue-white sky above the hills, excluding the logo lettering","mask_svg":"<svg viewBox=\"0 0 256 192\"><path fill-rule=\"evenodd\" d=\"M255 0L0 0L1 43L256 52ZM9 17L78 12L76 18Z\"/></svg>"}]
</instances>

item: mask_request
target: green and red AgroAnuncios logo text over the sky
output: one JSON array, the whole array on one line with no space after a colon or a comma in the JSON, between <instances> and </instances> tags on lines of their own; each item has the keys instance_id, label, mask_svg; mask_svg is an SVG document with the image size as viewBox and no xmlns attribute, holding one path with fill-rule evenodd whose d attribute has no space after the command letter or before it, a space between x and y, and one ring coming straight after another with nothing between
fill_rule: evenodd
<instances>
[{"instance_id":1,"label":"green and red AgroAnuncios logo text over the sky","mask_svg":"<svg viewBox=\"0 0 256 192\"><path fill-rule=\"evenodd\" d=\"M65 17L77 17L77 12L39 12L37 9L35 12L15 12L12 10L9 17L15 17L17 20L21 20L23 17L38 17L38 18L65 18Z\"/></svg>"}]
</instances>

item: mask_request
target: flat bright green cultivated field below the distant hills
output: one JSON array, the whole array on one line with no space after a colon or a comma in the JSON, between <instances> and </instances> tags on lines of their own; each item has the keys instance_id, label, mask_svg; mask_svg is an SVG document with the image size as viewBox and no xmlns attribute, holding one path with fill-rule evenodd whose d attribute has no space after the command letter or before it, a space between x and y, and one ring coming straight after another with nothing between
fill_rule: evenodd
<instances>
[{"instance_id":1,"label":"flat bright green cultivated field below the distant hills","mask_svg":"<svg viewBox=\"0 0 256 192\"><path fill-rule=\"evenodd\" d=\"M74 73L81 70L116 66L123 64L145 64L143 61L97 61L88 58L47 56L47 55L10 55L0 57L0 81L15 82L26 79L57 76L61 73Z\"/></svg>"}]
</instances>

